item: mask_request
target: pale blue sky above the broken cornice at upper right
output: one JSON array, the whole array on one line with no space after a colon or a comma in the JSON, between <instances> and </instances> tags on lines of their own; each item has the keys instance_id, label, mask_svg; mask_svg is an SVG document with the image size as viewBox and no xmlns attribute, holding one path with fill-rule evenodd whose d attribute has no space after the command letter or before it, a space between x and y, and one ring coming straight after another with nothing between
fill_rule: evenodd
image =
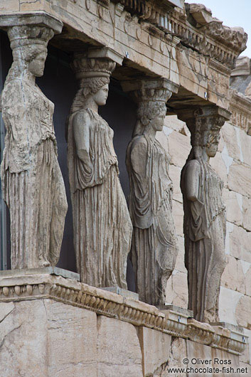
<instances>
[{"instance_id":1,"label":"pale blue sky above the broken cornice at upper right","mask_svg":"<svg viewBox=\"0 0 251 377\"><path fill-rule=\"evenodd\" d=\"M251 58L251 0L185 0L188 4L203 4L212 11L213 17L225 26L240 26L247 33L247 48L242 56Z\"/></svg>"}]
</instances>

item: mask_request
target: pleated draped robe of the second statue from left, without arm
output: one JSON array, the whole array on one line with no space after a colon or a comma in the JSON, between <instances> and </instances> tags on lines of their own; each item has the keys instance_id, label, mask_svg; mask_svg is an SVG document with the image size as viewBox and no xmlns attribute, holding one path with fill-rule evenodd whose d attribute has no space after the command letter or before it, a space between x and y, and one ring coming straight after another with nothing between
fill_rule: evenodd
<instances>
[{"instance_id":1,"label":"pleated draped robe of the second statue from left, without arm","mask_svg":"<svg viewBox=\"0 0 251 377\"><path fill-rule=\"evenodd\" d=\"M126 289L132 223L119 181L113 131L92 110L79 111L87 112L91 121L91 167L78 157L73 113L68 127L68 169L78 271L81 281L89 285Z\"/></svg>"}]
</instances>

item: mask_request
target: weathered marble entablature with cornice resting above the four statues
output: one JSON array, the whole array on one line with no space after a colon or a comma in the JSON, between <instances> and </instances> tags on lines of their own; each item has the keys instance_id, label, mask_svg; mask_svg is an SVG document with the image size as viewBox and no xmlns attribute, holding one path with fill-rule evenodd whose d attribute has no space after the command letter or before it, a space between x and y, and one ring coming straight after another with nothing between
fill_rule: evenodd
<instances>
[{"instance_id":1,"label":"weathered marble entablature with cornice resting above the four statues","mask_svg":"<svg viewBox=\"0 0 251 377\"><path fill-rule=\"evenodd\" d=\"M113 74L117 80L163 77L192 102L225 109L230 68L247 41L242 28L223 26L205 6L177 0L1 0L0 10L20 16L41 11L63 21L63 33L51 43L68 53L93 46L117 51L124 58Z\"/></svg>"}]
</instances>

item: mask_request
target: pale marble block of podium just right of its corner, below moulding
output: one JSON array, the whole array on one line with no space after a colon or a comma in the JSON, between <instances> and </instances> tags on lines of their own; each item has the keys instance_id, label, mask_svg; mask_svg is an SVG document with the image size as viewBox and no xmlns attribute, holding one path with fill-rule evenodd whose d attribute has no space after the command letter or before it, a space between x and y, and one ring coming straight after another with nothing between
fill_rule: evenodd
<instances>
[{"instance_id":1,"label":"pale marble block of podium just right of its corner, below moulding","mask_svg":"<svg viewBox=\"0 0 251 377\"><path fill-rule=\"evenodd\" d=\"M97 316L94 312L45 300L48 376L96 376Z\"/></svg>"}]
</instances>

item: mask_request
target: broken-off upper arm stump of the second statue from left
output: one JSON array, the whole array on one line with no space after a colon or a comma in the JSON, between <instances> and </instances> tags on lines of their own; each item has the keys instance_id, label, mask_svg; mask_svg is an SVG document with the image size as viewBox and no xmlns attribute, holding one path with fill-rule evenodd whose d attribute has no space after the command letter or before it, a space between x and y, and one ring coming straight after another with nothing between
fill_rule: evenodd
<instances>
[{"instance_id":1,"label":"broken-off upper arm stump of the second statue from left","mask_svg":"<svg viewBox=\"0 0 251 377\"><path fill-rule=\"evenodd\" d=\"M90 159L90 115L87 112L78 112L73 118L73 134L75 139L76 152L78 158L91 168Z\"/></svg>"}]
</instances>

